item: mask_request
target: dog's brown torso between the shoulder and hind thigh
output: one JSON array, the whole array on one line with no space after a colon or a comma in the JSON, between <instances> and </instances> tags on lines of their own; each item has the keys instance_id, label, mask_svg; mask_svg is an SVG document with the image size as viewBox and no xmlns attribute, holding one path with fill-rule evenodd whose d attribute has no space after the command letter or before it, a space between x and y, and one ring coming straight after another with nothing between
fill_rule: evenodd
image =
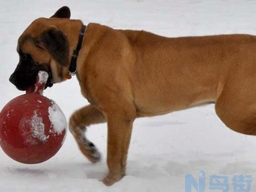
<instances>
[{"instance_id":1,"label":"dog's brown torso between the shoulder and hind thigh","mask_svg":"<svg viewBox=\"0 0 256 192\"><path fill-rule=\"evenodd\" d=\"M119 31L137 57L130 69L139 116L214 102L233 66L247 68L246 60L256 59L250 54L256 51L256 38L251 35L167 38L146 31Z\"/></svg>"}]
</instances>

